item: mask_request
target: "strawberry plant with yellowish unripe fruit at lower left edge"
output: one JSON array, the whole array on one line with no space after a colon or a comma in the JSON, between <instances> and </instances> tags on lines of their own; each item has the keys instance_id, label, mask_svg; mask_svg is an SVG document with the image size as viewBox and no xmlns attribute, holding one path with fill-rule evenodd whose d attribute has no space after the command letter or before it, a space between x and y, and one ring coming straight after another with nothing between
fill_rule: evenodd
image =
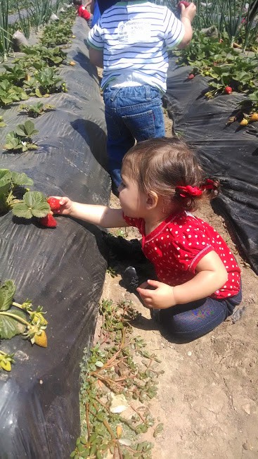
<instances>
[{"instance_id":1,"label":"strawberry plant with yellowish unripe fruit at lower left edge","mask_svg":"<svg viewBox=\"0 0 258 459\"><path fill-rule=\"evenodd\" d=\"M13 280L6 280L0 286L0 339L11 339L15 335L29 339L31 344L41 347L47 346L46 326L44 312L41 306L32 310L32 301L23 303L13 301L15 284ZM0 369L11 371L14 362L13 354L0 351Z\"/></svg>"}]
</instances>

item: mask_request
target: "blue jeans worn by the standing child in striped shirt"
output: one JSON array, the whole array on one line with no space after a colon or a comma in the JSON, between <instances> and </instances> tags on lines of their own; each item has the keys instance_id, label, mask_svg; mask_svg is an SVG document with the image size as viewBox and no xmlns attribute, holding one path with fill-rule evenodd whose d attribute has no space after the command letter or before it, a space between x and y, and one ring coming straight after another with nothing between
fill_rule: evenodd
<instances>
[{"instance_id":1,"label":"blue jeans worn by the standing child in striped shirt","mask_svg":"<svg viewBox=\"0 0 258 459\"><path fill-rule=\"evenodd\" d=\"M108 161L113 191L121 183L122 159L135 141L165 136L159 89L149 85L107 87L103 92Z\"/></svg>"}]
</instances>

